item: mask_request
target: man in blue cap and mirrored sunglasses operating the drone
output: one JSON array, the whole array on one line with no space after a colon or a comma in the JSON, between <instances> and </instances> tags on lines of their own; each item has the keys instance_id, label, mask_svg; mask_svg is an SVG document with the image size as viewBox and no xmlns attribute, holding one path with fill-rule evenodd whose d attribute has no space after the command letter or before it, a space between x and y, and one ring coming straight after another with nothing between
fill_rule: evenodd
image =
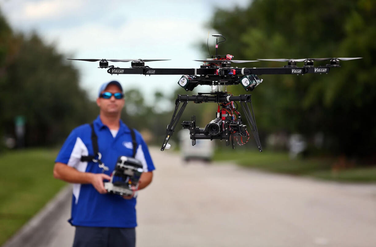
<instances>
[{"instance_id":1,"label":"man in blue cap and mirrored sunglasses operating the drone","mask_svg":"<svg viewBox=\"0 0 376 247\"><path fill-rule=\"evenodd\" d=\"M68 220L76 226L73 247L135 246L136 198L109 194L103 185L103 180L110 179L117 158L134 154L133 143L136 143L135 158L144 169L138 189L152 182L155 168L147 145L137 131L134 131L133 142L130 129L120 120L124 102L119 82L111 81L100 87L97 99L100 113L92 126L102 156L97 157L108 171L99 167L99 163L82 161L82 157L95 155L89 124L70 133L55 160L54 177L74 183L71 219Z\"/></svg>"}]
</instances>

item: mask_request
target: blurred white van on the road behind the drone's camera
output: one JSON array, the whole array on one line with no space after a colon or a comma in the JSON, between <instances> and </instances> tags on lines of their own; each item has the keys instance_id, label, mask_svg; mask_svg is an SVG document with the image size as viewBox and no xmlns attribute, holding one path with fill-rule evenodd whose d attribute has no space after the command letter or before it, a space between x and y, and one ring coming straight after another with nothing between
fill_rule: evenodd
<instances>
[{"instance_id":1,"label":"blurred white van on the road behind the drone's camera","mask_svg":"<svg viewBox=\"0 0 376 247\"><path fill-rule=\"evenodd\" d=\"M180 152L182 158L185 161L191 159L200 159L205 161L211 161L214 154L214 141L211 140L196 140L196 145L192 146L192 140L190 139L190 132L188 129L180 130Z\"/></svg>"}]
</instances>

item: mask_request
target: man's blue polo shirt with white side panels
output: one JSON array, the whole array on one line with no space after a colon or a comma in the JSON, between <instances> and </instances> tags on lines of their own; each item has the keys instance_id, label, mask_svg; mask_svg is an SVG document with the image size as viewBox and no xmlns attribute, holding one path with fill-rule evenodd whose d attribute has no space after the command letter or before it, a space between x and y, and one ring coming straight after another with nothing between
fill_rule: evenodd
<instances>
[{"instance_id":1,"label":"man's blue polo shirt with white side panels","mask_svg":"<svg viewBox=\"0 0 376 247\"><path fill-rule=\"evenodd\" d=\"M102 162L108 166L111 175L119 156L132 156L133 144L129 128L120 120L120 128L115 137L100 120L94 120L94 130L98 136ZM135 130L135 158L143 164L144 172L153 171L154 165L142 136ZM91 127L84 124L72 130L65 140L55 162L61 162L81 172L102 173L98 163L82 162L81 156L94 154L91 142ZM91 184L73 184L71 219L74 226L133 228L136 222L136 198L126 200L119 195L100 194Z\"/></svg>"}]
</instances>

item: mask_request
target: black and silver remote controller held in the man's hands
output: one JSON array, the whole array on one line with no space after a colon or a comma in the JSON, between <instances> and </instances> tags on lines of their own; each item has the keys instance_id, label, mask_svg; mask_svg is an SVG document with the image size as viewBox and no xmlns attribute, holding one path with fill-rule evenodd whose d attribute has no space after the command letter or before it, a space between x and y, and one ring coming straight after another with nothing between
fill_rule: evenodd
<instances>
[{"instance_id":1,"label":"black and silver remote controller held in the man's hands","mask_svg":"<svg viewBox=\"0 0 376 247\"><path fill-rule=\"evenodd\" d=\"M132 186L138 187L143 171L143 165L139 160L133 157L119 156L111 174L111 180L105 183L105 189L109 193L121 196L132 195Z\"/></svg>"}]
</instances>

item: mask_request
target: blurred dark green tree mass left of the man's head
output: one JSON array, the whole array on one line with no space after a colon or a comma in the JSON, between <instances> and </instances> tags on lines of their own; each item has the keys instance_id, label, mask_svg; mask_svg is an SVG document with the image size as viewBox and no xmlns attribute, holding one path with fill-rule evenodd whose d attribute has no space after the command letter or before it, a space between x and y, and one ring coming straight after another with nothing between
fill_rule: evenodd
<instances>
[{"instance_id":1,"label":"blurred dark green tree mass left of the man's head","mask_svg":"<svg viewBox=\"0 0 376 247\"><path fill-rule=\"evenodd\" d=\"M26 145L54 144L97 109L78 84L78 72L37 34L15 35L0 16L0 126L14 135L14 119L26 118ZM10 42L12 41L12 42Z\"/></svg>"}]
</instances>

